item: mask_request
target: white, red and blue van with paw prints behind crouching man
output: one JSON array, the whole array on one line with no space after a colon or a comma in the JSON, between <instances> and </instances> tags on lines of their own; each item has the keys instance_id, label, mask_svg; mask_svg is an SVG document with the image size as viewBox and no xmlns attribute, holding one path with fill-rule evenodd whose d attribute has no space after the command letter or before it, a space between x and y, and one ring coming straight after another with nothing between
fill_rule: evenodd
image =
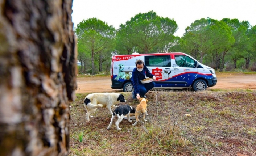
<instances>
[{"instance_id":1,"label":"white, red and blue van with paw prints behind crouching man","mask_svg":"<svg viewBox=\"0 0 256 156\"><path fill-rule=\"evenodd\" d=\"M181 52L117 55L111 62L111 88L132 92L132 71L135 62L143 60L149 71L156 76L154 89L206 90L216 85L214 69L199 63L196 59Z\"/></svg>"}]
</instances>

